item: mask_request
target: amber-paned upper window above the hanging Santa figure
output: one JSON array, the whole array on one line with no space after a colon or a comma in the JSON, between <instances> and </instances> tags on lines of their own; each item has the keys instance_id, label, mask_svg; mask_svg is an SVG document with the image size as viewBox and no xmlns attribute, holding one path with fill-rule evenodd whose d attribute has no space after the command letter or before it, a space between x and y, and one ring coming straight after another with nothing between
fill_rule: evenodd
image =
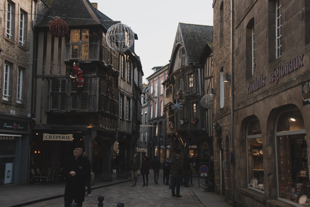
<instances>
[{"instance_id":1,"label":"amber-paned upper window above the hanging Santa figure","mask_svg":"<svg viewBox=\"0 0 310 207\"><path fill-rule=\"evenodd\" d=\"M71 59L87 60L89 55L89 30L70 30ZM81 52L80 52L81 51Z\"/></svg>"}]
</instances>

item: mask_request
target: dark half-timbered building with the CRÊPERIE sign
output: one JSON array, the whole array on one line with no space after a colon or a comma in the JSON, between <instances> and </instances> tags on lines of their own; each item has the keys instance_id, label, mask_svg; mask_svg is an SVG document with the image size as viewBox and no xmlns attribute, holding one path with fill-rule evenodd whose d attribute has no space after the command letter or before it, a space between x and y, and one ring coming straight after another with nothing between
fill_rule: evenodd
<instances>
[{"instance_id":1,"label":"dark half-timbered building with the CR\u00caPERIE sign","mask_svg":"<svg viewBox=\"0 0 310 207\"><path fill-rule=\"evenodd\" d=\"M95 176L110 181L117 141L118 172L125 176L141 124L143 71L134 45L126 52L108 46L107 30L119 22L98 11L96 4L84 0L41 3L49 5L40 11L43 17L34 25L35 124L31 150L41 150L35 167L45 173L60 173L72 155L72 146L80 143ZM50 32L50 23L57 17L69 25L63 37ZM77 65L84 78L83 87L70 79Z\"/></svg>"}]
</instances>

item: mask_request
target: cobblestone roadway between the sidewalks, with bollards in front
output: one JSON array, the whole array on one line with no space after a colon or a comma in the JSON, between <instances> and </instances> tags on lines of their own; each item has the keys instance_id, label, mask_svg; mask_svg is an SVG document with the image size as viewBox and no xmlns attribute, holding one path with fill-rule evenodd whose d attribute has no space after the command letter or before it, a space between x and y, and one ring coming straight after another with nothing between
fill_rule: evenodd
<instances>
[{"instance_id":1,"label":"cobblestone roadway between the sidewalks, with bollards in front","mask_svg":"<svg viewBox=\"0 0 310 207\"><path fill-rule=\"evenodd\" d=\"M104 196L103 206L116 206L118 202L123 202L125 207L165 207L165 206L191 206L204 207L201 201L195 195L195 191L203 191L198 188L198 178L193 178L194 185L191 187L180 188L182 198L172 197L171 190L168 185L163 184L160 176L158 184L154 184L153 175L149 176L148 186L143 187L142 177L138 177L136 186L132 186L130 182L124 182L104 188L92 190L92 196L85 197L83 207L97 207L98 196ZM47 200L44 202L27 205L28 207L51 207L64 206L64 198Z\"/></svg>"}]
</instances>

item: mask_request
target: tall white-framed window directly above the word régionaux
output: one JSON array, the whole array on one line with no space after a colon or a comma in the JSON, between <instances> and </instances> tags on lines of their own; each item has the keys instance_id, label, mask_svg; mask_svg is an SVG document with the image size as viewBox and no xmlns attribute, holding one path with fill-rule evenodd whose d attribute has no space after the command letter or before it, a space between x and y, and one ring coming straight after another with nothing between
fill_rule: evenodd
<instances>
[{"instance_id":1,"label":"tall white-framed window directly above the word r\u00e9gionaux","mask_svg":"<svg viewBox=\"0 0 310 207\"><path fill-rule=\"evenodd\" d=\"M276 58L282 55L282 0L276 3Z\"/></svg>"}]
</instances>

